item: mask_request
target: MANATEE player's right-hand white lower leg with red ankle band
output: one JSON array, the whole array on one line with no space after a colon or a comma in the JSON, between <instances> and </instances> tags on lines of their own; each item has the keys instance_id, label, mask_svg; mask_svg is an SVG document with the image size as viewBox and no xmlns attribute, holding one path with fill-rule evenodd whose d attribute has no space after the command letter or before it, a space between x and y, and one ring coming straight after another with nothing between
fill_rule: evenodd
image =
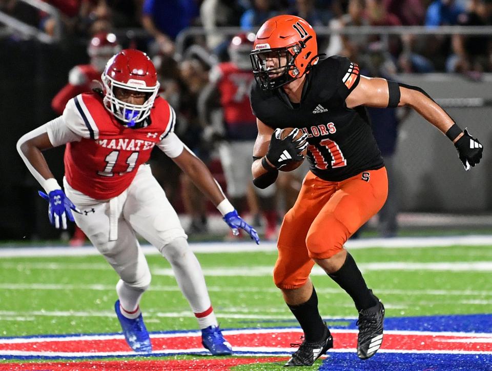
<instances>
[{"instance_id":1,"label":"MANATEE player's right-hand white lower leg with red ankle band","mask_svg":"<svg viewBox=\"0 0 492 371\"><path fill-rule=\"evenodd\" d=\"M200 263L188 246L185 238L178 238L161 249L162 256L171 264L174 277L181 292L190 303L197 316L200 328L217 325L214 311L211 309L209 293Z\"/></svg>"}]
</instances>

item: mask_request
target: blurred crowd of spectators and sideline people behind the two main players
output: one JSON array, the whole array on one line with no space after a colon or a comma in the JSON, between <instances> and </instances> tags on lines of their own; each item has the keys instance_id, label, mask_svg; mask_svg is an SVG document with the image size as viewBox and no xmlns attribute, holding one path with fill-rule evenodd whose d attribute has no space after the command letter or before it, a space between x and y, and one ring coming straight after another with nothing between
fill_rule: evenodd
<instances>
[{"instance_id":1,"label":"blurred crowd of spectators and sideline people behind the two main players","mask_svg":"<svg viewBox=\"0 0 492 371\"><path fill-rule=\"evenodd\" d=\"M146 51L159 71L160 94L178 113L180 138L209 165L240 213L249 210L255 226L263 225L275 238L283 212L295 200L305 167L282 173L270 193L257 193L228 157L248 148L256 136L248 92L253 81L249 51L256 29L277 14L294 14L318 33L319 51L341 54L358 63L364 74L391 78L398 72L459 72L479 79L492 71L490 35L367 35L320 32L321 27L492 25L492 0L44 0L57 8L61 23L19 0L0 0L0 11L53 35L60 42L87 40L91 63L75 66L68 84L60 87L52 108L57 113L72 96L90 90L104 61L120 48ZM190 26L205 32L186 38L177 48L176 37ZM217 31L239 27L240 34ZM58 28L58 29L57 29ZM253 35L253 36L252 36ZM16 35L12 35L15 38ZM101 62L102 61L102 62ZM232 93L231 93L232 92ZM381 114L375 112L374 114ZM391 160L401 113L386 113L391 128L380 132L380 147ZM378 135L376 135L378 136ZM158 152L158 151L155 151ZM241 154L242 155L242 154ZM205 204L191 182L161 153L153 171L170 201L191 216L189 232L207 231ZM242 165L241 165L242 166ZM242 175L244 177L244 175ZM181 205L176 205L181 203ZM396 213L396 210L394 211ZM392 218L392 219L391 219ZM382 235L395 234L395 215Z\"/></svg>"}]
</instances>

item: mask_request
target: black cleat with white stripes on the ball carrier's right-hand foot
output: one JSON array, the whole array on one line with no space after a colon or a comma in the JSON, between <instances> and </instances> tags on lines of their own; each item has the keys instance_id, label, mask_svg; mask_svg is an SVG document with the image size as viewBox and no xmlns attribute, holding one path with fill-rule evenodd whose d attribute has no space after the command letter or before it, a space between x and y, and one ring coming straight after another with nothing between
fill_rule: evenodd
<instances>
[{"instance_id":1,"label":"black cleat with white stripes on the ball carrier's right-hand foot","mask_svg":"<svg viewBox=\"0 0 492 371\"><path fill-rule=\"evenodd\" d=\"M362 309L357 321L359 326L357 355L360 359L374 356L383 342L384 306L381 300L373 296L378 303L371 308Z\"/></svg>"}]
</instances>

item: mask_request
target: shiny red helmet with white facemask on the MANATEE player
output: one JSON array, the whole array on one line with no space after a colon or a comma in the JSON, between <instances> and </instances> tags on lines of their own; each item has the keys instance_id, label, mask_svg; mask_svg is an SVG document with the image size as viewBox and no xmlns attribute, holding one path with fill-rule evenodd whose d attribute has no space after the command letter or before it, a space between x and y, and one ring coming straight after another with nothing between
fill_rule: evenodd
<instances>
[{"instance_id":1,"label":"shiny red helmet with white facemask on the MANATEE player","mask_svg":"<svg viewBox=\"0 0 492 371\"><path fill-rule=\"evenodd\" d=\"M159 82L154 64L146 53L135 49L121 50L108 61L101 79L104 105L117 119L132 127L150 114ZM116 98L114 88L145 92L147 99L142 105L126 103Z\"/></svg>"}]
</instances>

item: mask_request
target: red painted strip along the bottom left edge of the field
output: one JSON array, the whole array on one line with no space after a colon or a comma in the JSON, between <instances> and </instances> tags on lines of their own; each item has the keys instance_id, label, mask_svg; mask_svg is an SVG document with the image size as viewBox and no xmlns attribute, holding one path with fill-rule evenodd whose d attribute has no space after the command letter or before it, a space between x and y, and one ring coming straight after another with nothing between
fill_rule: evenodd
<instances>
[{"instance_id":1,"label":"red painted strip along the bottom left edge of the field","mask_svg":"<svg viewBox=\"0 0 492 371\"><path fill-rule=\"evenodd\" d=\"M242 364L285 362L283 357L254 358L204 358L197 360L162 360L162 361L85 361L85 362L36 362L3 363L0 371L154 371L154 370L214 370L228 371L231 367Z\"/></svg>"}]
</instances>

